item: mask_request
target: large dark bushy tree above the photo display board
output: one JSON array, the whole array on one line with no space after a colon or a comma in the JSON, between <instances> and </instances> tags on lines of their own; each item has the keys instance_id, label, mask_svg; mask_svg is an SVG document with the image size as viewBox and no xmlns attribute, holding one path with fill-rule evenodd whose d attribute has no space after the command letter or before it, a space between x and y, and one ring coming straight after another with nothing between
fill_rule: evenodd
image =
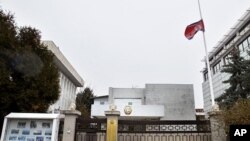
<instances>
[{"instance_id":1,"label":"large dark bushy tree above the photo display board","mask_svg":"<svg viewBox=\"0 0 250 141\"><path fill-rule=\"evenodd\" d=\"M0 124L10 112L46 112L59 97L59 71L40 32L0 9ZM0 125L1 127L1 125Z\"/></svg>"}]
</instances>

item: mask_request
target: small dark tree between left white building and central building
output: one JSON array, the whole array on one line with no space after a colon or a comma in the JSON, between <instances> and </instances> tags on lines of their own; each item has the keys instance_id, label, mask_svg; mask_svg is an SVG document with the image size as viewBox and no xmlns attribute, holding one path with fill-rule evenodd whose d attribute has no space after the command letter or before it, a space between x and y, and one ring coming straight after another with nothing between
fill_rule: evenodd
<instances>
[{"instance_id":1,"label":"small dark tree between left white building and central building","mask_svg":"<svg viewBox=\"0 0 250 141\"><path fill-rule=\"evenodd\" d=\"M91 104L93 104L94 93L89 87L77 94L76 109L82 113L83 118L90 118Z\"/></svg>"}]
</instances>

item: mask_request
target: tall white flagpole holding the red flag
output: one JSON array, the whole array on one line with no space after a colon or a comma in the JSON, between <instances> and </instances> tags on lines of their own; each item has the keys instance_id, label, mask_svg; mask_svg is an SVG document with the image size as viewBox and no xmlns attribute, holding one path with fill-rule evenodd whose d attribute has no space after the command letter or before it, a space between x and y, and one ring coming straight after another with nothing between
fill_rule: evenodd
<instances>
[{"instance_id":1,"label":"tall white flagpole holding the red flag","mask_svg":"<svg viewBox=\"0 0 250 141\"><path fill-rule=\"evenodd\" d=\"M200 0L198 0L198 5L199 5L200 18L202 19ZM207 71L208 71L210 95L211 95L212 107L214 107L214 105L215 105L214 90L213 90L213 82L212 82L212 75L211 75L211 70L210 70L209 58L208 58L208 53L207 53L207 43L206 43L205 31L203 31L202 33L203 33L203 42L204 42L205 53L206 53L206 62L207 62L206 64L207 64Z\"/></svg>"}]
</instances>

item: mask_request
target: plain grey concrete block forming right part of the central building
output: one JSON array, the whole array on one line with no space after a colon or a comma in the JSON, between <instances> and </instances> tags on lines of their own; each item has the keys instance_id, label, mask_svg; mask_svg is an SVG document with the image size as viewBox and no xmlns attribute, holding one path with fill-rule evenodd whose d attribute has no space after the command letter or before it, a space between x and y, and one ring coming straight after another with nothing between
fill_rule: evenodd
<instances>
[{"instance_id":1,"label":"plain grey concrete block forming right part of the central building","mask_svg":"<svg viewBox=\"0 0 250 141\"><path fill-rule=\"evenodd\" d=\"M161 120L195 120L192 84L146 84L146 105L164 105Z\"/></svg>"}]
</instances>

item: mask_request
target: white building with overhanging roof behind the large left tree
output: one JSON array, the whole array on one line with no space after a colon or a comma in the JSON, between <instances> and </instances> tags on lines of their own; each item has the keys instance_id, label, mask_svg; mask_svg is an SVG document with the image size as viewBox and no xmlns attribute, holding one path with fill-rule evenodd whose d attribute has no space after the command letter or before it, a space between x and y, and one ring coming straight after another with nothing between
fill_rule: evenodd
<instances>
[{"instance_id":1,"label":"white building with overhanging roof behind the large left tree","mask_svg":"<svg viewBox=\"0 0 250 141\"><path fill-rule=\"evenodd\" d=\"M54 62L60 73L60 97L49 111L68 110L70 104L75 103L77 87L83 87L84 81L53 41L43 41L43 44L55 55Z\"/></svg>"}]
</instances>

